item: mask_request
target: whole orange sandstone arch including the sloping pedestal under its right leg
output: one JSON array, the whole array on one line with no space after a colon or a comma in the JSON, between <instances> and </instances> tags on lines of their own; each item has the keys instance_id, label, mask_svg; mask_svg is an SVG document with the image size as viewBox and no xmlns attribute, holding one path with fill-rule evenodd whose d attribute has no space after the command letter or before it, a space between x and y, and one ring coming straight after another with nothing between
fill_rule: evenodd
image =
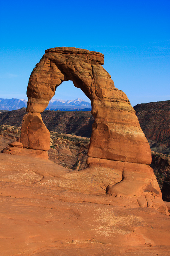
<instances>
[{"instance_id":1,"label":"whole orange sandstone arch including the sloping pedestal under its right leg","mask_svg":"<svg viewBox=\"0 0 170 256\"><path fill-rule=\"evenodd\" d=\"M150 146L135 110L126 94L114 87L103 64L104 56L99 52L74 47L45 51L29 78L29 113L23 118L20 137L23 148L49 149L50 134L40 113L48 106L57 86L72 80L74 86L91 100L95 118L88 149L89 170L97 166L110 168L112 172L120 171L122 180L114 185L108 184L108 194L137 197L141 207L153 207L168 214L153 169L149 167Z\"/></svg>"}]
</instances>

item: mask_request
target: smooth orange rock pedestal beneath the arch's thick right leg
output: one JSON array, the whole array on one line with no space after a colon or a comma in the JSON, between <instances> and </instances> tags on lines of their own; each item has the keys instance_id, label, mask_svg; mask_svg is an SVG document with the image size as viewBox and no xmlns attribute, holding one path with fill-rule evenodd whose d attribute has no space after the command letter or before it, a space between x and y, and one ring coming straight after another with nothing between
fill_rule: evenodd
<instances>
[{"instance_id":1,"label":"smooth orange rock pedestal beneath the arch's thick right leg","mask_svg":"<svg viewBox=\"0 0 170 256\"><path fill-rule=\"evenodd\" d=\"M162 200L158 182L153 169L146 164L127 163L99 158L87 158L89 168L93 166L121 171L122 180L107 186L108 194L115 197L131 198L140 207L151 207L169 216L168 208Z\"/></svg>"}]
</instances>

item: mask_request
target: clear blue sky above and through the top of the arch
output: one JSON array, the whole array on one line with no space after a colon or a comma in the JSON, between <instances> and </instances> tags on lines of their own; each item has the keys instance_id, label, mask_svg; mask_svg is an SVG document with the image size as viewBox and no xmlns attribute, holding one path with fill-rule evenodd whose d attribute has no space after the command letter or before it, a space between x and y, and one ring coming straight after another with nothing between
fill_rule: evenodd
<instances>
[{"instance_id":1,"label":"clear blue sky above and through the top of the arch","mask_svg":"<svg viewBox=\"0 0 170 256\"><path fill-rule=\"evenodd\" d=\"M170 1L1 1L0 98L25 98L44 50L102 52L104 68L132 106L170 100ZM71 81L54 96L87 97Z\"/></svg>"}]
</instances>

